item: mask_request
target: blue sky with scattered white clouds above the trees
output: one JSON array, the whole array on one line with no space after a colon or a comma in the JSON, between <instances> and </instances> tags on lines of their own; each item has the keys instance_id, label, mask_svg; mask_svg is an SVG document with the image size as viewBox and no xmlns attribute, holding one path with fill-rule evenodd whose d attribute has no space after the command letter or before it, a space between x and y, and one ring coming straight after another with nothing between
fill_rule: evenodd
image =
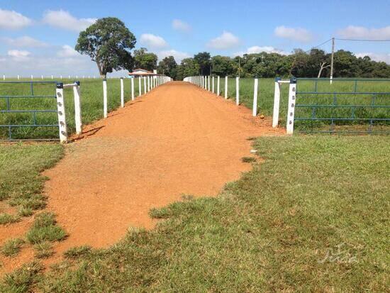
<instances>
[{"instance_id":1,"label":"blue sky with scattered white clouds above the trees","mask_svg":"<svg viewBox=\"0 0 390 293\"><path fill-rule=\"evenodd\" d=\"M177 61L201 51L289 54L333 36L390 39L390 0L34 2L0 0L0 74L97 75L96 65L73 48L80 30L106 16L126 23L137 48ZM329 51L330 43L321 48ZM336 49L390 64L390 43L340 40Z\"/></svg>"}]
</instances>

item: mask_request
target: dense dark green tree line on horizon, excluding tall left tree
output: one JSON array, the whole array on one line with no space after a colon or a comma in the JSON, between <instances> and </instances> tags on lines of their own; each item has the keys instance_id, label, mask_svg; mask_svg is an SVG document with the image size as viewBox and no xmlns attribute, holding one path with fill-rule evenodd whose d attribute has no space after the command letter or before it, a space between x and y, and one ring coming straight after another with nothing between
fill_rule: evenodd
<instances>
[{"instance_id":1,"label":"dense dark green tree line on horizon, excluding tall left tree","mask_svg":"<svg viewBox=\"0 0 390 293\"><path fill-rule=\"evenodd\" d=\"M330 54L312 49L296 49L291 55L275 52L245 54L242 57L199 52L177 64L173 56L165 57L157 65L157 72L175 80L194 75L221 77L330 77ZM390 77L390 65L376 62L369 56L356 57L352 52L338 50L334 55L333 77Z\"/></svg>"}]
</instances>

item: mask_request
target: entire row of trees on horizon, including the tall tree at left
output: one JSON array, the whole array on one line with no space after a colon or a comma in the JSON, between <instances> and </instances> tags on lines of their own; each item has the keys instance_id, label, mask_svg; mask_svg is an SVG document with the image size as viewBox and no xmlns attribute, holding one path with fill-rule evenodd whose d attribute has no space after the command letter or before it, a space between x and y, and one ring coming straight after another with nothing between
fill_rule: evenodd
<instances>
[{"instance_id":1,"label":"entire row of trees on horizon, including the tall tree at left","mask_svg":"<svg viewBox=\"0 0 390 293\"><path fill-rule=\"evenodd\" d=\"M329 77L330 57L323 50L305 52L296 49L290 55L260 52L228 57L199 52L184 58L179 64L173 56L158 62L158 57L147 48L135 48L135 35L118 18L100 18L79 34L75 50L89 55L96 62L101 77L113 70L156 70L172 79L182 80L195 75L221 77ZM158 63L157 63L158 62ZM356 57L352 52L338 50L334 55L333 77L390 77L390 65L376 62L369 56Z\"/></svg>"}]
</instances>

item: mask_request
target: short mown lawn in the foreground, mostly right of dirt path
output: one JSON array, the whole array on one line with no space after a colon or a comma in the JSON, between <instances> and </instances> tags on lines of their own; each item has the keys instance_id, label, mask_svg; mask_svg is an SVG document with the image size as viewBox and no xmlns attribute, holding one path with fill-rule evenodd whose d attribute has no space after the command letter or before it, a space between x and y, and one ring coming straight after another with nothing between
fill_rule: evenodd
<instances>
[{"instance_id":1,"label":"short mown lawn in the foreground, mostly right of dirt path","mask_svg":"<svg viewBox=\"0 0 390 293\"><path fill-rule=\"evenodd\" d=\"M386 292L389 145L384 136L258 138L264 162L218 197L153 210L156 229L106 250L73 248L52 272L27 264L0 291ZM54 147L14 148L1 170Z\"/></svg>"}]
</instances>

